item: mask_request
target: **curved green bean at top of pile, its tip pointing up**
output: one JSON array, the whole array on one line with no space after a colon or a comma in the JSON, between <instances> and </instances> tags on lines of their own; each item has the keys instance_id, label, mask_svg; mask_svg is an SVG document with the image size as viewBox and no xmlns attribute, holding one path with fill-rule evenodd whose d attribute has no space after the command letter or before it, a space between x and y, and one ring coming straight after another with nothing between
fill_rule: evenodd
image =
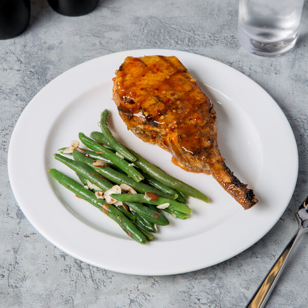
<instances>
[{"instance_id":1,"label":"curved green bean at top of pile, its tip pointing up","mask_svg":"<svg viewBox=\"0 0 308 308\"><path fill-rule=\"evenodd\" d=\"M136 161L136 157L134 157L121 143L118 142L117 139L115 139L112 136L111 131L108 128L108 117L109 117L109 111L105 109L101 114L101 130L104 134L104 137L107 140L106 145L112 147L115 149L118 153L122 154L124 158L128 159L131 162Z\"/></svg>"}]
</instances>

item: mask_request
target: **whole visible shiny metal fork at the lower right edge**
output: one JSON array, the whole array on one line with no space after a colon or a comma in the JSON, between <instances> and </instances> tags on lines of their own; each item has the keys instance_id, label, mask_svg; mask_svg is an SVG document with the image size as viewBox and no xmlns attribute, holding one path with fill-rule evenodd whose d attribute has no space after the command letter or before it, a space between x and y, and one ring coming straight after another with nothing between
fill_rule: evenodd
<instances>
[{"instance_id":1,"label":"whole visible shiny metal fork at the lower right edge","mask_svg":"<svg viewBox=\"0 0 308 308\"><path fill-rule=\"evenodd\" d=\"M290 256L293 248L297 244L298 240L301 236L308 231L308 196L296 211L295 216L298 220L298 229L291 239L291 241L286 245L283 252L273 265L273 267L269 270L268 274L258 287L258 290L252 297L252 299L247 304L246 308L262 308L265 306L265 303L271 295L275 284L277 283L285 263Z\"/></svg>"}]
</instances>

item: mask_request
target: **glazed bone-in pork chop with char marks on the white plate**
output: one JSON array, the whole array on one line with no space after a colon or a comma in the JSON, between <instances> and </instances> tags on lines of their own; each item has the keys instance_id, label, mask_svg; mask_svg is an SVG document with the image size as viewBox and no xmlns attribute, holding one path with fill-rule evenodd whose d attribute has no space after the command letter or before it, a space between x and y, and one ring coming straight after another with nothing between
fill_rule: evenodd
<instances>
[{"instance_id":1,"label":"glazed bone-in pork chop with char marks on the white plate","mask_svg":"<svg viewBox=\"0 0 308 308\"><path fill-rule=\"evenodd\" d=\"M213 105L177 57L128 56L115 74L113 100L128 129L183 169L211 174L245 209L258 202L226 166Z\"/></svg>"}]
</instances>

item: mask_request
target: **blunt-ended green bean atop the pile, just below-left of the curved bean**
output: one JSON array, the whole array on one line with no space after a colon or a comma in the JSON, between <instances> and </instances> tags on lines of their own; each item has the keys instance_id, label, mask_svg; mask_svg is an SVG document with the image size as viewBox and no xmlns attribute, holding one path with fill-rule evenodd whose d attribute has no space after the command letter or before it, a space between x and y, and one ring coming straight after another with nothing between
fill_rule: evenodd
<instances>
[{"instance_id":1,"label":"blunt-ended green bean atop the pile, just below-left of the curved bean","mask_svg":"<svg viewBox=\"0 0 308 308\"><path fill-rule=\"evenodd\" d=\"M91 137L92 137L92 133L91 133ZM95 137L95 134L94 134L94 137ZM86 137L82 132L79 133L79 139L85 146L87 146L91 150L100 152L100 154L102 154L106 159L109 159L110 161L112 161L115 165L117 165L120 169L122 169L126 174L128 174L136 182L140 182L144 179L144 177L140 174L140 172L138 172L133 166L129 166L129 163L126 160L115 155L110 149L107 149L101 144Z\"/></svg>"}]
</instances>

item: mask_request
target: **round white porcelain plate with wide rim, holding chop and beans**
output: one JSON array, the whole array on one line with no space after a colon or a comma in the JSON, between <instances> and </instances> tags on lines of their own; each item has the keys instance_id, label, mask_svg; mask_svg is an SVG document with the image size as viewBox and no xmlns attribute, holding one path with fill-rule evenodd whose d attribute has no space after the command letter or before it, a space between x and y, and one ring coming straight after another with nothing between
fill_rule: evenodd
<instances>
[{"instance_id":1,"label":"round white porcelain plate with wide rim, holding chop and beans","mask_svg":"<svg viewBox=\"0 0 308 308\"><path fill-rule=\"evenodd\" d=\"M126 129L112 97L112 78L125 57L175 55L213 102L222 156L259 199L242 209L211 177L186 172L168 152L142 142ZM206 204L189 198L187 220L168 216L156 239L141 245L111 219L57 183L47 172L74 172L53 159L58 148L99 130L108 108L116 138L170 175L198 188ZM66 253L111 271L138 275L179 274L227 260L256 243L271 229L290 201L298 154L292 129L275 101L237 70L207 57L176 50L131 50L98 57L58 76L25 108L12 134L9 177L28 220Z\"/></svg>"}]
</instances>

